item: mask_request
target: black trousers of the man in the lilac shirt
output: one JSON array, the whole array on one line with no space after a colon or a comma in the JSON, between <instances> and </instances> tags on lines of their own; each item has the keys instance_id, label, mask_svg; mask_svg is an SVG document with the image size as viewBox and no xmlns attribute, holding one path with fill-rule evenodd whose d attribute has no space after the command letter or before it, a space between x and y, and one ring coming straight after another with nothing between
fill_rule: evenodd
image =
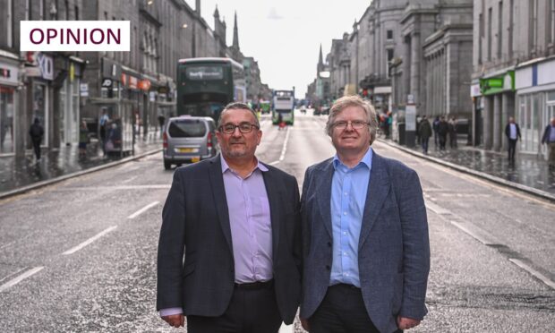
<instances>
[{"instance_id":1,"label":"black trousers of the man in the lilac shirt","mask_svg":"<svg viewBox=\"0 0 555 333\"><path fill-rule=\"evenodd\" d=\"M189 333L277 333L281 326L273 284L235 286L226 312L219 317L187 316Z\"/></svg>"}]
</instances>

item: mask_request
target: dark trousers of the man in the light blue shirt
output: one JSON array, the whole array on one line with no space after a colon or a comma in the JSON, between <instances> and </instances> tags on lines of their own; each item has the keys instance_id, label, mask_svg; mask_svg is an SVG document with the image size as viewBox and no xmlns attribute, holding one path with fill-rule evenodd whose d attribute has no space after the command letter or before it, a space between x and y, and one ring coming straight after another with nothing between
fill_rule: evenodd
<instances>
[{"instance_id":1,"label":"dark trousers of the man in the light blue shirt","mask_svg":"<svg viewBox=\"0 0 555 333\"><path fill-rule=\"evenodd\" d=\"M311 333L380 333L366 312L361 289L343 284L328 288L309 325Z\"/></svg>"}]
</instances>

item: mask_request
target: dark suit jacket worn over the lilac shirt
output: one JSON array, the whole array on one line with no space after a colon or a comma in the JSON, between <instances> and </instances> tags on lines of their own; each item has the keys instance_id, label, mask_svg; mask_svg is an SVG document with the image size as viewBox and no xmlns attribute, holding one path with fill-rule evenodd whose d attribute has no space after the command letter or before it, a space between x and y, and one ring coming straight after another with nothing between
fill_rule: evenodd
<instances>
[{"instance_id":1,"label":"dark suit jacket worn over the lilac shirt","mask_svg":"<svg viewBox=\"0 0 555 333\"><path fill-rule=\"evenodd\" d=\"M282 320L293 322L301 298L301 225L295 177L267 166L274 288ZM175 170L158 244L157 309L219 316L235 283L231 228L219 155Z\"/></svg>"}]
</instances>

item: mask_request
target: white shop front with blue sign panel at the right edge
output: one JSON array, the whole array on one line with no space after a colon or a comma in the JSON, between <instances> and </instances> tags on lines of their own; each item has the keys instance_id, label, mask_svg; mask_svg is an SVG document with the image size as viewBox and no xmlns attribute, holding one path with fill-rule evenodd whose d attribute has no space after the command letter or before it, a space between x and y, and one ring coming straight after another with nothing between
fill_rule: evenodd
<instances>
[{"instance_id":1,"label":"white shop front with blue sign panel at the right edge","mask_svg":"<svg viewBox=\"0 0 555 333\"><path fill-rule=\"evenodd\" d=\"M517 67L517 123L523 152L548 158L543 129L555 116L555 59L532 60Z\"/></svg>"}]
</instances>

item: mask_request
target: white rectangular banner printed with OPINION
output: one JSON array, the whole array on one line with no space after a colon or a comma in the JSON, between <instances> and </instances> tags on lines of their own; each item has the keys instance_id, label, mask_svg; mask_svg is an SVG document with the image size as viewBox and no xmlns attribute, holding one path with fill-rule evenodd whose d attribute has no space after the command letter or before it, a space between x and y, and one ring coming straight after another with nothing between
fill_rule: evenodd
<instances>
[{"instance_id":1,"label":"white rectangular banner printed with OPINION","mask_svg":"<svg viewBox=\"0 0 555 333\"><path fill-rule=\"evenodd\" d=\"M129 51L129 21L21 21L21 51Z\"/></svg>"}]
</instances>

